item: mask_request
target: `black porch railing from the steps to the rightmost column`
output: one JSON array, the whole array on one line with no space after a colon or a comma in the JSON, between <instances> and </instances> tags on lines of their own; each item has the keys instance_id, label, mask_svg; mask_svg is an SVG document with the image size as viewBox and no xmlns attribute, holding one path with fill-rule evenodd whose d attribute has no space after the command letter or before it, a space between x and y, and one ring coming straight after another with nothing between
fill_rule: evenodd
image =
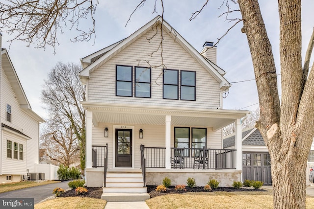
<instances>
[{"instance_id":1,"label":"black porch railing from the steps to the rightmost column","mask_svg":"<svg viewBox=\"0 0 314 209\"><path fill-rule=\"evenodd\" d=\"M175 149L171 148L171 158L174 159ZM204 148L182 148L183 162L180 166L172 166L172 168L194 168L194 169L235 169L235 149L205 149L208 152L207 159L203 162L199 161L199 153ZM146 159L147 168L165 168L165 152L164 147L145 147L143 150ZM173 162L176 163L176 162ZM200 166L201 163L201 166Z\"/></svg>"}]
</instances>

